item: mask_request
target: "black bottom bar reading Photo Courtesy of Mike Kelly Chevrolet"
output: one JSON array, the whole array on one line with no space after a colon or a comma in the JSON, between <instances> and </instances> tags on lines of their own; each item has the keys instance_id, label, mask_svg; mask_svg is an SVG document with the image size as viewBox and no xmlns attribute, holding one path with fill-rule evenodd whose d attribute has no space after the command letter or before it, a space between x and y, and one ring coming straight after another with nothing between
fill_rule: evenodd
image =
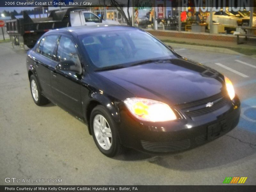
<instances>
[{"instance_id":1,"label":"black bottom bar reading Photo Courtesy of Mike Kelly Chevrolet","mask_svg":"<svg viewBox=\"0 0 256 192\"><path fill-rule=\"evenodd\" d=\"M189 186L189 185L169 185L169 186L162 186L162 185L150 185L150 186L142 186L142 185L81 185L81 186L75 186L75 185L48 185L48 186L36 186L36 185L16 185L16 186L0 186L1 192L125 192L125 191L133 191L133 192L251 192L256 191L256 186L247 186L247 185L219 185L219 186Z\"/></svg>"}]
</instances>

